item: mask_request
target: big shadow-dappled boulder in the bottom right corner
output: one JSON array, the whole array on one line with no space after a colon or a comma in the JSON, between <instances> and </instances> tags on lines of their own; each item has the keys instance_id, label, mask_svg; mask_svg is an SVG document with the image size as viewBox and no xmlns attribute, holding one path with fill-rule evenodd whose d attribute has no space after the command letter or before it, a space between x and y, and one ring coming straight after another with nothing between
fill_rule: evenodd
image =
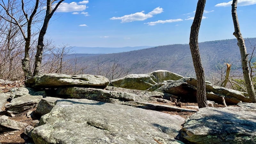
<instances>
[{"instance_id":1,"label":"big shadow-dappled boulder in the bottom right corner","mask_svg":"<svg viewBox=\"0 0 256 144\"><path fill-rule=\"evenodd\" d=\"M200 108L186 119L182 128L185 139L197 144L256 143L256 104L242 107ZM249 107L248 107L249 106Z\"/></svg>"}]
</instances>

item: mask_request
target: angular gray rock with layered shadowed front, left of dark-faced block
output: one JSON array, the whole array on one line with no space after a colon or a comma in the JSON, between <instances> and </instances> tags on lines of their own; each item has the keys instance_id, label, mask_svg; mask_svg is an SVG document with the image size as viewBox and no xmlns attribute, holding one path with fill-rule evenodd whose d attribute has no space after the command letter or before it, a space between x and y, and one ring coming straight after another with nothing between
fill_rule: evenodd
<instances>
[{"instance_id":1,"label":"angular gray rock with layered shadowed front, left of dark-faced block","mask_svg":"<svg viewBox=\"0 0 256 144\"><path fill-rule=\"evenodd\" d=\"M36 108L39 101L43 96L31 96L24 95L15 99L12 99L10 103L5 104L5 109L8 115L14 116L15 114L24 112L26 110Z\"/></svg>"}]
</instances>

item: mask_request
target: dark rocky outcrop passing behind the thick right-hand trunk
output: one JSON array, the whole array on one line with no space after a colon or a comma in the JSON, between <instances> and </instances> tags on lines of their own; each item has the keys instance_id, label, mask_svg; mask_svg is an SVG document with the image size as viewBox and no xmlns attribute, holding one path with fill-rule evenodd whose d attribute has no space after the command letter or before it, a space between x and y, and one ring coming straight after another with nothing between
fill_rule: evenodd
<instances>
[{"instance_id":1,"label":"dark rocky outcrop passing behind the thick right-hand trunk","mask_svg":"<svg viewBox=\"0 0 256 144\"><path fill-rule=\"evenodd\" d=\"M196 101L196 79L183 78L177 81L167 81L165 85L156 89L156 92L170 93L181 99ZM222 97L228 104L237 104L239 102L250 102L250 98L242 94L242 92L227 89L220 86L212 85L206 82L207 100L222 103Z\"/></svg>"}]
</instances>

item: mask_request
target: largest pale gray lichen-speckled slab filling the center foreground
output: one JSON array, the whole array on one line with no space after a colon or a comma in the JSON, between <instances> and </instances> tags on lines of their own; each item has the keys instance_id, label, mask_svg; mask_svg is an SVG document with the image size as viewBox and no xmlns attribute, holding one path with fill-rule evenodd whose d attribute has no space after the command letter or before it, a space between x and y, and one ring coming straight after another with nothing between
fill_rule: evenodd
<instances>
[{"instance_id":1,"label":"largest pale gray lichen-speckled slab filling the center foreground","mask_svg":"<svg viewBox=\"0 0 256 144\"><path fill-rule=\"evenodd\" d=\"M85 99L57 100L33 129L35 143L182 143L174 140L184 118Z\"/></svg>"}]
</instances>

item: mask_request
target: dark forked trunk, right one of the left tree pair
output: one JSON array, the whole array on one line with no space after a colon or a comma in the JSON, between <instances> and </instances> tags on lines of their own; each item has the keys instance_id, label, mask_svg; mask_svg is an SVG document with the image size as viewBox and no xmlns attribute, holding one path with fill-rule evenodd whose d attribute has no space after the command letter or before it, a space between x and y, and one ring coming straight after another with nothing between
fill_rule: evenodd
<instances>
[{"instance_id":1,"label":"dark forked trunk, right one of the left tree pair","mask_svg":"<svg viewBox=\"0 0 256 144\"><path fill-rule=\"evenodd\" d=\"M38 36L38 43L37 43L37 50L36 50L36 57L35 57L35 68L34 68L34 73L33 76L39 75L40 74L40 68L41 68L41 63L42 63L42 55L43 55L43 48L44 48L44 35L46 33L46 30L48 28L48 24L50 19L52 18L53 13L57 10L58 6L60 5L61 2L64 0L60 0L52 9L52 3L57 0L47 0L47 5L46 5L46 14L44 17L44 24L40 30L39 36Z\"/></svg>"}]
</instances>

